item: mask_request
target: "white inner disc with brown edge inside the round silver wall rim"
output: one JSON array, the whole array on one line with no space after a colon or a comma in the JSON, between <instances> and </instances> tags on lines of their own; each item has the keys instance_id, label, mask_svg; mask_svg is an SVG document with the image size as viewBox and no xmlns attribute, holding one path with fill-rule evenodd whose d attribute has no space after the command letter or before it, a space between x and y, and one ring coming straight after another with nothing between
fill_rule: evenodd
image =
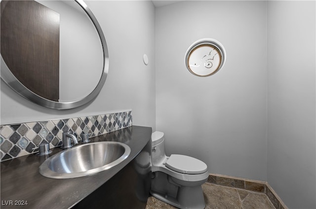
<instances>
[{"instance_id":1,"label":"white inner disc with brown edge inside the round silver wall rim","mask_svg":"<svg viewBox=\"0 0 316 209\"><path fill-rule=\"evenodd\" d=\"M222 64L221 52L212 44L201 44L193 48L187 57L187 68L197 76L209 76L217 72Z\"/></svg>"}]
</instances>

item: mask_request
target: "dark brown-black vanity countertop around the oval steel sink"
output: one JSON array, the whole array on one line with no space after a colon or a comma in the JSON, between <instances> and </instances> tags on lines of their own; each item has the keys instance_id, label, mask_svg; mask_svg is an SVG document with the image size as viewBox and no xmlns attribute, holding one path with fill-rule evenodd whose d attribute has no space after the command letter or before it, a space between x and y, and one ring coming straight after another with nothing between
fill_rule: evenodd
<instances>
[{"instance_id":1,"label":"dark brown-black vanity countertop around the oval steel sink","mask_svg":"<svg viewBox=\"0 0 316 209\"><path fill-rule=\"evenodd\" d=\"M40 164L62 151L52 148L47 156L26 155L1 162L1 209L17 208L15 201L27 201L23 209L65 209L76 205L126 166L151 139L152 128L130 126L91 138L96 141L119 141L131 148L131 153L117 166L89 176L68 179L47 178L39 173ZM80 143L79 143L80 144ZM13 201L12 204L11 202ZM10 204L8 206L8 204Z\"/></svg>"}]
</instances>

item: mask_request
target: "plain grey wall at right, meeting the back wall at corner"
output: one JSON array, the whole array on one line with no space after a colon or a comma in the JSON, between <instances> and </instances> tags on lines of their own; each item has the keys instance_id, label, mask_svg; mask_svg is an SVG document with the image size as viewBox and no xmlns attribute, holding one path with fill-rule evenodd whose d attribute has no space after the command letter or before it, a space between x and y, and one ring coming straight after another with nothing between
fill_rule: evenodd
<instances>
[{"instance_id":1,"label":"plain grey wall at right, meeting the back wall at corner","mask_svg":"<svg viewBox=\"0 0 316 209\"><path fill-rule=\"evenodd\" d=\"M268 1L268 182L291 209L315 209L316 3Z\"/></svg>"}]
</instances>

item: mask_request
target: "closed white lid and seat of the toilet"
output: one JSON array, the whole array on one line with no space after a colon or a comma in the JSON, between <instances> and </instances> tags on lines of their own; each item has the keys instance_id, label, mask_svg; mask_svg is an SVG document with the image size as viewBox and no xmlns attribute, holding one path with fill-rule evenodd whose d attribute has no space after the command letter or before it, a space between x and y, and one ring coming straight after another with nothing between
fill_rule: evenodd
<instances>
[{"instance_id":1,"label":"closed white lid and seat of the toilet","mask_svg":"<svg viewBox=\"0 0 316 209\"><path fill-rule=\"evenodd\" d=\"M186 155L170 155L165 166L181 174L203 174L207 171L207 165L204 162Z\"/></svg>"}]
</instances>

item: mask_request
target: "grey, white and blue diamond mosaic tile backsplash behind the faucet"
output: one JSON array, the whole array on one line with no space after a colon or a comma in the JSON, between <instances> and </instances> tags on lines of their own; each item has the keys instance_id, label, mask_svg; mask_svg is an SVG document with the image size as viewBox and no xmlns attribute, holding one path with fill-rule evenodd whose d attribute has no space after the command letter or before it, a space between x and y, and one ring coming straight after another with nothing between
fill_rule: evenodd
<instances>
[{"instance_id":1,"label":"grey, white and blue diamond mosaic tile backsplash behind the faucet","mask_svg":"<svg viewBox=\"0 0 316 209\"><path fill-rule=\"evenodd\" d=\"M132 111L78 118L48 120L0 126L0 161L37 152L41 143L53 148L61 145L63 132L78 140L82 133L90 137L106 134L132 125Z\"/></svg>"}]
</instances>

